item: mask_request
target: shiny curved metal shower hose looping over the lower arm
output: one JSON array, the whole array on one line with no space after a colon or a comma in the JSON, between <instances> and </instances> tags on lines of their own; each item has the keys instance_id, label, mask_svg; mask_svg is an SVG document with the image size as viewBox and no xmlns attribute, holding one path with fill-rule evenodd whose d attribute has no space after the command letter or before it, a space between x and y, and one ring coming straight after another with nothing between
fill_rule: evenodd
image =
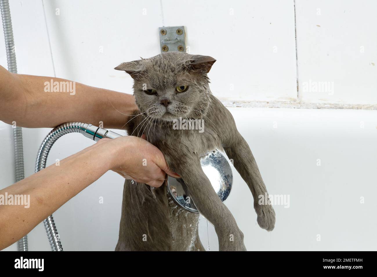
<instances>
[{"instance_id":1,"label":"shiny curved metal shower hose looping over the lower arm","mask_svg":"<svg viewBox=\"0 0 377 277\"><path fill-rule=\"evenodd\" d=\"M55 127L51 130L51 132L48 133L46 138L43 139L41 146L39 147L37 160L35 161L36 173L46 167L47 157L50 153L52 145L54 145L58 138L69 133L81 133L87 138L90 138L94 141L98 141L101 138L118 138L121 136L112 131L108 131L106 129L83 122L67 122L60 124L58 127ZM46 230L51 250L63 251L58 230L56 228L52 214L51 216L43 220L43 225L44 229Z\"/></svg>"}]
</instances>

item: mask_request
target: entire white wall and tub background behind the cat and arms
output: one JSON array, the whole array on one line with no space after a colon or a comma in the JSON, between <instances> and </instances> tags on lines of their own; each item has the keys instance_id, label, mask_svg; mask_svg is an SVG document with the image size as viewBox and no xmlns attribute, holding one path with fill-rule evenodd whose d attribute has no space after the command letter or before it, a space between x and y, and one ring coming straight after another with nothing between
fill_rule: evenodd
<instances>
[{"instance_id":1,"label":"entire white wall and tub background behind the cat and arms","mask_svg":"<svg viewBox=\"0 0 377 277\"><path fill-rule=\"evenodd\" d=\"M234 191L226 205L248 250L376 249L377 2L43 3L44 8L40 0L10 0L18 73L54 76L55 69L60 78L132 93L132 79L113 68L159 54L161 26L186 26L190 53L217 59L209 74L212 92L229 106L241 106L229 109L268 192L290 195L289 208L274 206L276 227L268 233L257 226L251 193L233 170ZM0 64L6 67L4 43ZM309 81L332 82L333 93L305 91L303 84ZM369 110L268 108L280 104ZM34 172L48 131L23 129L25 176ZM12 129L3 122L0 143L3 188L14 183ZM78 134L64 136L52 148L48 164L91 143ZM65 250L115 248L122 189L123 179L108 172L54 213ZM100 196L104 204L99 204ZM208 233L210 249L218 249L212 226ZM204 220L200 235L206 246ZM29 249L49 250L42 224L30 233Z\"/></svg>"}]
</instances>

